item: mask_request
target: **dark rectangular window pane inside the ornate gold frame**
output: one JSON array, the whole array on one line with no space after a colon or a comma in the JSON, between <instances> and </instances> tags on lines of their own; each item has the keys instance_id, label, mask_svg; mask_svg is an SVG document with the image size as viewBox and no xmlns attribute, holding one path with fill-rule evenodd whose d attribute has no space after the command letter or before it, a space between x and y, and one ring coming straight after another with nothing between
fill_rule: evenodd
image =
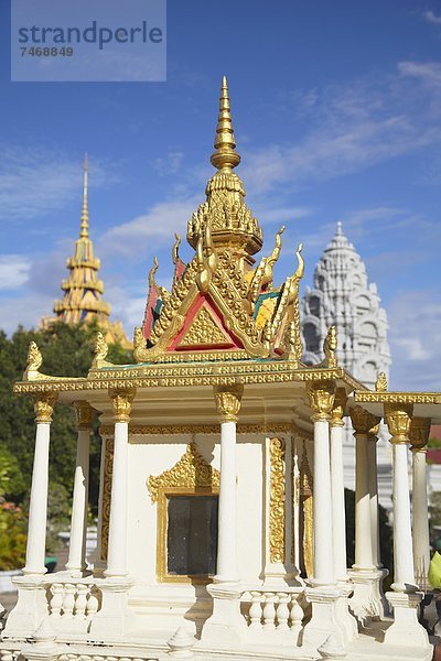
<instances>
[{"instance_id":1,"label":"dark rectangular window pane inside the ornate gold frame","mask_svg":"<svg viewBox=\"0 0 441 661\"><path fill-rule=\"evenodd\" d=\"M169 496L168 514L168 573L215 574L217 496Z\"/></svg>"}]
</instances>

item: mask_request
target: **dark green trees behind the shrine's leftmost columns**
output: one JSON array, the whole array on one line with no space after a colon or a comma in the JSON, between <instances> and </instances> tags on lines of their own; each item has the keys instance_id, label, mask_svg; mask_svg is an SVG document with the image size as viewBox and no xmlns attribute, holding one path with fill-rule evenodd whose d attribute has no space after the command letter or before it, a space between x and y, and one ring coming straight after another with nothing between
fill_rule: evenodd
<instances>
[{"instance_id":1,"label":"dark green trees behind the shrine's leftmost columns","mask_svg":"<svg viewBox=\"0 0 441 661\"><path fill-rule=\"evenodd\" d=\"M31 340L43 355L42 371L53 376L82 377L90 367L95 335L94 325L67 326L58 323L46 330L19 327L11 338L0 332L0 462L2 449L13 459L9 473L8 496L18 505L29 492L34 454L34 412L29 397L14 395L12 387L20 380L26 364ZM119 345L110 345L110 361L130 362L130 354ZM98 501L100 440L97 426L90 440L90 503L95 512ZM56 405L51 432L50 481L63 488L58 496L69 500L76 455L75 416L71 407ZM17 470L15 470L15 468ZM1 479L1 478L0 478ZM52 507L55 506L55 500ZM51 507L50 507L50 516ZM61 524L61 523L60 523Z\"/></svg>"}]
</instances>

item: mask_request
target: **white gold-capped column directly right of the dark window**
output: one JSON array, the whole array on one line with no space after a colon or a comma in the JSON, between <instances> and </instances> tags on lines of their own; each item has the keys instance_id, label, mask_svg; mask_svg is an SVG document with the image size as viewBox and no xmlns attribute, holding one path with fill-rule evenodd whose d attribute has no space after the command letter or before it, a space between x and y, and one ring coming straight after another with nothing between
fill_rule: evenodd
<instances>
[{"instance_id":1,"label":"white gold-capped column directly right of the dark window","mask_svg":"<svg viewBox=\"0 0 441 661\"><path fill-rule=\"evenodd\" d=\"M220 416L220 481L215 583L238 581L236 511L236 423L243 387L219 387L214 391Z\"/></svg>"}]
</instances>

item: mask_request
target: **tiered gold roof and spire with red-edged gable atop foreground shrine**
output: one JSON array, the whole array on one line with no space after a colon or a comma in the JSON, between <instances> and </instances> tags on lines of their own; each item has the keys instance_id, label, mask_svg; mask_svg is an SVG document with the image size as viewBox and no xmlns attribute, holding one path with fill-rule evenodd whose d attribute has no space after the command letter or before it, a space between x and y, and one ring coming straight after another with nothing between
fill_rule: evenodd
<instances>
[{"instance_id":1,"label":"tiered gold roof and spire with red-edged gable atop foreground shrine","mask_svg":"<svg viewBox=\"0 0 441 661\"><path fill-rule=\"evenodd\" d=\"M135 332L135 360L160 362L173 354L228 351L229 359L281 356L300 364L299 282L303 275L302 246L297 270L273 286L273 267L280 257L281 235L268 257L251 270L262 248L262 231L245 204L245 188L234 172L236 151L227 80L220 89L219 115L211 156L216 172L206 186L206 202L187 224L187 241L195 250L190 263L179 257L180 237L172 251L174 277L170 292L149 278L149 297L142 329ZM179 356L178 356L179 355Z\"/></svg>"}]
</instances>

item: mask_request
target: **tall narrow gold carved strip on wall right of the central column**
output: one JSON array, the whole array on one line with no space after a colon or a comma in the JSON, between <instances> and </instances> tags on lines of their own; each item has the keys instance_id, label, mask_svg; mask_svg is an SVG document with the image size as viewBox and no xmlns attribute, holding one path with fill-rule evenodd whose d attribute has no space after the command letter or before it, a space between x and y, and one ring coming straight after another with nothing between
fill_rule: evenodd
<instances>
[{"instance_id":1,"label":"tall narrow gold carved strip on wall right of the central column","mask_svg":"<svg viewBox=\"0 0 441 661\"><path fill-rule=\"evenodd\" d=\"M269 560L284 562L284 441L270 438Z\"/></svg>"}]
</instances>

